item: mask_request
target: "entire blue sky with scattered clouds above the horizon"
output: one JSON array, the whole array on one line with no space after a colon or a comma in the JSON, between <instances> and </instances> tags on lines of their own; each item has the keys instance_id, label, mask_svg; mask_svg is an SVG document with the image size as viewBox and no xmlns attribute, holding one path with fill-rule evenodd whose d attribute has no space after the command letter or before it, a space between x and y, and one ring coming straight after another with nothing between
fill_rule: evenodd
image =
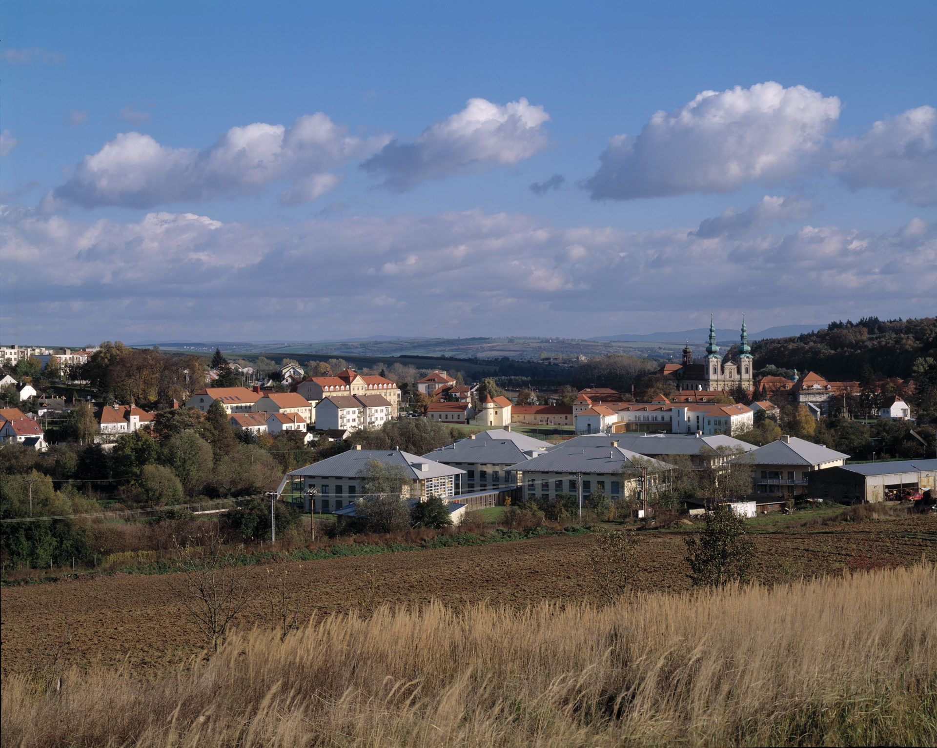
<instances>
[{"instance_id":1,"label":"entire blue sky with scattered clouds above the horizon","mask_svg":"<svg viewBox=\"0 0 937 748\"><path fill-rule=\"evenodd\" d=\"M932 2L5 15L5 343L937 312Z\"/></svg>"}]
</instances>

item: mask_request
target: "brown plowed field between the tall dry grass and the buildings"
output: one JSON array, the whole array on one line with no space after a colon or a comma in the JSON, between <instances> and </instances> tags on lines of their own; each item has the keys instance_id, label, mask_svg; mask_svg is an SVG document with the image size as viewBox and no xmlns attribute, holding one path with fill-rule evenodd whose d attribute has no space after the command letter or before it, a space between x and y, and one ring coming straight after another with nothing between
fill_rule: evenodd
<instances>
[{"instance_id":1,"label":"brown plowed field between the tall dry grass and the buildings","mask_svg":"<svg viewBox=\"0 0 937 748\"><path fill-rule=\"evenodd\" d=\"M640 533L643 590L689 587L684 544L673 532ZM937 561L937 517L830 525L753 536L763 582L841 573L843 568ZM290 562L290 592L305 594L309 614L376 603L418 605L432 598L460 606L488 600L526 606L543 599L593 595L587 552L591 536L542 537L512 543L379 556ZM373 585L367 575L373 572ZM256 570L258 577L265 570ZM7 587L0 591L2 669L28 670L59 651L67 663L134 670L186 662L204 639L188 621L165 576L97 576ZM373 591L373 592L372 592ZM260 603L241 625L260 621Z\"/></svg>"}]
</instances>

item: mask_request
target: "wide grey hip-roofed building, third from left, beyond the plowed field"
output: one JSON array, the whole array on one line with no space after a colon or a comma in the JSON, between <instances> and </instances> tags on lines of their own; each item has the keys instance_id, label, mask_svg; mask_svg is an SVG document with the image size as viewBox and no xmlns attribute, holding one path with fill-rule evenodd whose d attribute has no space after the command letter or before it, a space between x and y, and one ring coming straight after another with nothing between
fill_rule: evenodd
<instances>
[{"instance_id":1,"label":"wide grey hip-roofed building, third from left, beyond the plowed field","mask_svg":"<svg viewBox=\"0 0 937 748\"><path fill-rule=\"evenodd\" d=\"M623 449L615 440L564 441L514 465L512 471L523 473L528 501L551 501L560 493L576 496L580 480L584 501L593 491L615 501L636 490L642 468L649 469L647 491L651 495L669 485L673 466Z\"/></svg>"}]
</instances>

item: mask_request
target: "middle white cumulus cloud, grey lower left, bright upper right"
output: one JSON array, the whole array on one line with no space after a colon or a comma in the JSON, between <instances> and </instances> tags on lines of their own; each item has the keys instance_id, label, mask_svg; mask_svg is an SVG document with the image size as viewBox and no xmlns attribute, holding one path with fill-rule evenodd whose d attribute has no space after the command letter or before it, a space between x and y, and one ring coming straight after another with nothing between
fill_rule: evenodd
<instances>
[{"instance_id":1,"label":"middle white cumulus cloud, grey lower left, bright upper right","mask_svg":"<svg viewBox=\"0 0 937 748\"><path fill-rule=\"evenodd\" d=\"M403 191L426 179L492 165L515 164L547 144L542 106L519 98L503 106L470 98L466 108L424 129L413 142L394 140L361 165L384 177L383 187Z\"/></svg>"}]
</instances>

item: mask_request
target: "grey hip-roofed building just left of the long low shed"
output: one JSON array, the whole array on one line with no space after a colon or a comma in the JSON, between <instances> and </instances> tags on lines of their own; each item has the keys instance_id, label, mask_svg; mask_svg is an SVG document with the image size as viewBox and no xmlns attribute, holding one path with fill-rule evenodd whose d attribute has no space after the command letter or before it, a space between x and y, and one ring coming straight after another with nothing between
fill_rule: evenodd
<instances>
[{"instance_id":1,"label":"grey hip-roofed building just left of the long low shed","mask_svg":"<svg viewBox=\"0 0 937 748\"><path fill-rule=\"evenodd\" d=\"M844 465L848 458L823 444L785 434L778 441L736 457L736 462L751 466L751 485L756 494L782 494L793 499L806 493L811 471Z\"/></svg>"}]
</instances>

